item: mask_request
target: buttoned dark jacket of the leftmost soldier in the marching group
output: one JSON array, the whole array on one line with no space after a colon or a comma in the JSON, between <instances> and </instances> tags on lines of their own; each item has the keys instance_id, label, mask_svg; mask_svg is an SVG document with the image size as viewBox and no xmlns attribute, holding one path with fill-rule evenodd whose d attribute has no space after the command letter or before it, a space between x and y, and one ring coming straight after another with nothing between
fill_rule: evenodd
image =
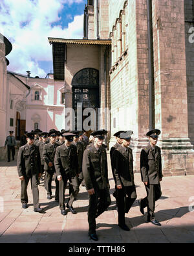
<instances>
[{"instance_id":1,"label":"buttoned dark jacket of the leftmost soldier in the marching group","mask_svg":"<svg viewBox=\"0 0 194 256\"><path fill-rule=\"evenodd\" d=\"M32 145L31 150L28 144L19 147L17 155L17 172L19 177L24 175L32 177L32 175L41 173L41 160L39 148L37 146Z\"/></svg>"}]
</instances>

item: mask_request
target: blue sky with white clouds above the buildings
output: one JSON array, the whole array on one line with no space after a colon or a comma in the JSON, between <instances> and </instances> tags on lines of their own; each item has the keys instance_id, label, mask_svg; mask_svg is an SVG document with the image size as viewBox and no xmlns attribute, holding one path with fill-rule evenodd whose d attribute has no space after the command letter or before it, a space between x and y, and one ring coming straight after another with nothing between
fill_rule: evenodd
<instances>
[{"instance_id":1,"label":"blue sky with white clouds above the buildings","mask_svg":"<svg viewBox=\"0 0 194 256\"><path fill-rule=\"evenodd\" d=\"M48 37L83 38L87 0L1 0L0 33L12 43L8 71L46 77L52 68Z\"/></svg>"}]
</instances>

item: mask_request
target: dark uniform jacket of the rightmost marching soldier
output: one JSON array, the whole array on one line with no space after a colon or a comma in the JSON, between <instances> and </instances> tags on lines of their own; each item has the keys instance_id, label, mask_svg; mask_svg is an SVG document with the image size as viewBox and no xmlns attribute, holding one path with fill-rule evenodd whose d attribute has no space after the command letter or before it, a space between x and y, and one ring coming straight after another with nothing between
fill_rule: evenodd
<instances>
[{"instance_id":1,"label":"dark uniform jacket of the rightmost marching soldier","mask_svg":"<svg viewBox=\"0 0 194 256\"><path fill-rule=\"evenodd\" d=\"M162 161L160 147L155 146L155 153L150 144L141 151L140 169L143 182L159 184L162 178Z\"/></svg>"}]
</instances>

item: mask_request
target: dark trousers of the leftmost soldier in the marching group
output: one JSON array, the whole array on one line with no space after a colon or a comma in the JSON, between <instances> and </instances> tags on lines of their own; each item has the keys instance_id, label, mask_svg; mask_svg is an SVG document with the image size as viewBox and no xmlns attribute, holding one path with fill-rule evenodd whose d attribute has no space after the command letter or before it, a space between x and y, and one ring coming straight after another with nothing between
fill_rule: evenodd
<instances>
[{"instance_id":1,"label":"dark trousers of the leftmost soldier in the marching group","mask_svg":"<svg viewBox=\"0 0 194 256\"><path fill-rule=\"evenodd\" d=\"M29 180L31 183L33 205L35 209L39 207L38 175L32 175L32 177L28 177L27 175L24 176L24 180L21 181L21 203L28 203L27 187Z\"/></svg>"}]
</instances>

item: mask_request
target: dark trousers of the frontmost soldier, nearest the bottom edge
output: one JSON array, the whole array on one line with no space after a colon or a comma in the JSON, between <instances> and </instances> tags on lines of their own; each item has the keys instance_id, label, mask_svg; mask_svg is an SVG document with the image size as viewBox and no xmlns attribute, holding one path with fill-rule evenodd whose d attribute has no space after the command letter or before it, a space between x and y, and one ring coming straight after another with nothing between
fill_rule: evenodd
<instances>
[{"instance_id":1,"label":"dark trousers of the frontmost soldier, nearest the bottom edge","mask_svg":"<svg viewBox=\"0 0 194 256\"><path fill-rule=\"evenodd\" d=\"M96 233L96 218L111 204L111 197L108 188L100 190L94 188L94 192L94 194L89 195L89 234Z\"/></svg>"}]
</instances>

